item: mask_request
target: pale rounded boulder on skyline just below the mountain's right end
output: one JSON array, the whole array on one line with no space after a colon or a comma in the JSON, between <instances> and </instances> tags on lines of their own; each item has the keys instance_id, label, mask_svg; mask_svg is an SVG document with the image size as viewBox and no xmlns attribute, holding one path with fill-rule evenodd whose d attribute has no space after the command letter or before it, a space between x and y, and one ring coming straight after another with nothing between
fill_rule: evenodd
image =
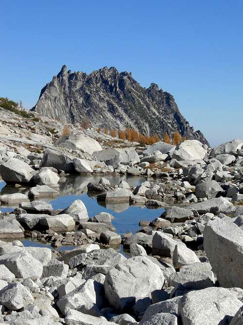
<instances>
[{"instance_id":1,"label":"pale rounded boulder on skyline just below the mountain's right end","mask_svg":"<svg viewBox=\"0 0 243 325\"><path fill-rule=\"evenodd\" d=\"M186 140L176 146L172 159L176 160L195 160L204 159L207 150L198 140Z\"/></svg>"}]
</instances>

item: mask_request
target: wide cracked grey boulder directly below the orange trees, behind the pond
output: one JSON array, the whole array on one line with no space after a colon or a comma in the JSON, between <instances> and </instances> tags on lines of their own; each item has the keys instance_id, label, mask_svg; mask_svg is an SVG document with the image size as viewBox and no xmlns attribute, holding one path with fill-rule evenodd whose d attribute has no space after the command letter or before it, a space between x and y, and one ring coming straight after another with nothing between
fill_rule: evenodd
<instances>
[{"instance_id":1,"label":"wide cracked grey boulder directly below the orange trees, behind the pond","mask_svg":"<svg viewBox=\"0 0 243 325\"><path fill-rule=\"evenodd\" d=\"M104 161L106 165L118 167L120 164L132 162L140 162L139 155L134 148L112 148L102 151L95 151L93 156L100 161Z\"/></svg>"}]
</instances>

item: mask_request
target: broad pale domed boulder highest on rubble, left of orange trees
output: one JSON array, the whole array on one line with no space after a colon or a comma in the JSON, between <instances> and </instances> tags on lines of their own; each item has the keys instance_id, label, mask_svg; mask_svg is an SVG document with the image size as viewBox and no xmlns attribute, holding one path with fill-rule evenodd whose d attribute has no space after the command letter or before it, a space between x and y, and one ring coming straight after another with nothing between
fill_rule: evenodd
<instances>
[{"instance_id":1,"label":"broad pale domed boulder highest on rubble, left of orange trees","mask_svg":"<svg viewBox=\"0 0 243 325\"><path fill-rule=\"evenodd\" d=\"M80 150L83 153L92 154L94 151L101 151L102 146L95 139L86 134L67 134L61 136L55 147L67 148L69 150Z\"/></svg>"}]
</instances>

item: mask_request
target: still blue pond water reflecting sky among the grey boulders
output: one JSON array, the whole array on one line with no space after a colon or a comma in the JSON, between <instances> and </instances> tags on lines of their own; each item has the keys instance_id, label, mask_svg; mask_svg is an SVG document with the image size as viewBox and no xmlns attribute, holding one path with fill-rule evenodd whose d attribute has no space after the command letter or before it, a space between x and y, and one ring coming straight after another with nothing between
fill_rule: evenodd
<instances>
[{"instance_id":1,"label":"still blue pond water reflecting sky among the grey boulders","mask_svg":"<svg viewBox=\"0 0 243 325\"><path fill-rule=\"evenodd\" d=\"M65 209L77 199L82 200L87 208L89 217L100 212L109 212L115 218L112 220L112 225L116 228L116 232L119 234L127 231L135 233L140 228L140 220L152 221L156 217L159 217L163 212L164 209L147 209L144 206L129 206L129 204L126 203L105 205L104 202L98 202L92 193L87 193L87 184L89 182L99 182L100 178L100 175L68 176L66 182L60 185L60 195L55 199L45 199L45 201L51 203L55 210ZM136 176L119 175L109 175L105 176L105 178L109 179L111 184L119 184L121 180L124 180L133 187L146 180L145 178ZM15 187L7 186L3 181L0 182L0 195L15 192L27 193L28 189L16 189ZM12 211L14 208L15 207L0 207L0 210L2 212ZM25 241L25 245L30 244L28 244L28 241Z\"/></svg>"}]
</instances>

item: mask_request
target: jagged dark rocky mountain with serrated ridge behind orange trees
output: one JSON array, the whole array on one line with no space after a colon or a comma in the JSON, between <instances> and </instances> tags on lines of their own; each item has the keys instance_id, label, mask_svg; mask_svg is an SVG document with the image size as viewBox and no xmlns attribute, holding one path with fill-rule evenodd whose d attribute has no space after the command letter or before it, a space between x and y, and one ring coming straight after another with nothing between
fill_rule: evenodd
<instances>
[{"instance_id":1,"label":"jagged dark rocky mountain with serrated ridge behind orange trees","mask_svg":"<svg viewBox=\"0 0 243 325\"><path fill-rule=\"evenodd\" d=\"M131 73L119 73L114 67L83 72L67 71L64 65L40 93L36 112L61 121L78 123L86 116L94 127L137 129L143 134L179 132L188 139L208 141L194 132L180 114L174 97L155 83L143 88Z\"/></svg>"}]
</instances>

